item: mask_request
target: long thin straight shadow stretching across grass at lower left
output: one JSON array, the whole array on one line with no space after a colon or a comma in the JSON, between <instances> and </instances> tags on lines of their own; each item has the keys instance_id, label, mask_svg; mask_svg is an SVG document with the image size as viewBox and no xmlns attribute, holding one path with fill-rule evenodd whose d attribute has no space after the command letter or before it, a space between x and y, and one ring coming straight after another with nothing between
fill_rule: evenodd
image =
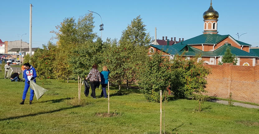
<instances>
[{"instance_id":1,"label":"long thin straight shadow stretching across grass at lower left","mask_svg":"<svg viewBox=\"0 0 259 134\"><path fill-rule=\"evenodd\" d=\"M77 107L80 107L80 105L73 106L73 107L62 108L62 109L51 110L51 111L47 111L47 112L39 112L39 113L36 113L36 114L27 114L27 115L21 115L21 116L16 116L16 117L3 118L3 119L0 119L0 121L11 120L11 119L18 119L18 118L30 117L30 116L36 116L36 115L40 115L40 114L49 114L49 113L59 112L59 111L62 111L62 110L73 109L73 108L77 108Z\"/></svg>"}]
</instances>

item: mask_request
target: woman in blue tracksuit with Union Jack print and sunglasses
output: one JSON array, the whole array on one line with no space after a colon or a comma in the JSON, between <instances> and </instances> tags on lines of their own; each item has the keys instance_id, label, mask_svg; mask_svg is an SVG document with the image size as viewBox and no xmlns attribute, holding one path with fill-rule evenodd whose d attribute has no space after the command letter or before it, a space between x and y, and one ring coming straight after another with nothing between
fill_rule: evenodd
<instances>
[{"instance_id":1,"label":"woman in blue tracksuit with Union Jack print and sunglasses","mask_svg":"<svg viewBox=\"0 0 259 134\"><path fill-rule=\"evenodd\" d=\"M23 64L23 67L24 67L24 72L23 72L23 75L24 75L24 79L25 79L25 86L24 86L24 90L23 90L23 95L22 95L22 101L21 101L21 105L24 104L24 100L26 98L26 94L28 92L28 89L30 87L30 81L34 81L36 83L36 77L37 77L37 74L36 74L36 70L35 68L33 68L30 63L25 63ZM34 90L31 89L30 91L30 105L31 105L31 101L33 100L33 96L34 96Z\"/></svg>"}]
</instances>

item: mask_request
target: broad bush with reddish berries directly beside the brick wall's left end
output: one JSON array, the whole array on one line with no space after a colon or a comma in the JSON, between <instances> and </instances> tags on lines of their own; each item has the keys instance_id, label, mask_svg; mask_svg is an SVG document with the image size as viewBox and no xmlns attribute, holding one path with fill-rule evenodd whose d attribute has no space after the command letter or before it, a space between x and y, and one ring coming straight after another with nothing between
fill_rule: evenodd
<instances>
[{"instance_id":1,"label":"broad bush with reddish berries directly beside the brick wall's left end","mask_svg":"<svg viewBox=\"0 0 259 134\"><path fill-rule=\"evenodd\" d=\"M182 55L175 55L172 60L173 81L171 90L178 98L193 97L193 93L206 92L206 76L210 74L210 69L202 65L203 61L198 61L200 55L196 55L190 60ZM177 75L176 75L177 74ZM177 79L176 77L179 76Z\"/></svg>"}]
</instances>

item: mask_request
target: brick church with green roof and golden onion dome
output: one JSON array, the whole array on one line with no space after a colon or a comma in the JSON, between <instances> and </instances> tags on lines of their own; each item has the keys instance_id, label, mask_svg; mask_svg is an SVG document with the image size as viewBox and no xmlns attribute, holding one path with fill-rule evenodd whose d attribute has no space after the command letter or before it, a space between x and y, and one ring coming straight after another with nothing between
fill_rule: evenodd
<instances>
[{"instance_id":1,"label":"brick church with green roof and golden onion dome","mask_svg":"<svg viewBox=\"0 0 259 134\"><path fill-rule=\"evenodd\" d=\"M199 60L203 60L206 64L218 65L226 48L229 47L231 53L236 55L237 65L255 66L258 64L258 54L250 52L252 45L235 40L230 35L218 34L219 13L213 9L212 3L210 3L210 8L203 13L203 18L203 34L172 45L150 45L149 54L162 51L163 56L169 56L172 59L176 54L186 51L185 56L190 59L195 54L201 53L202 57Z\"/></svg>"}]
</instances>

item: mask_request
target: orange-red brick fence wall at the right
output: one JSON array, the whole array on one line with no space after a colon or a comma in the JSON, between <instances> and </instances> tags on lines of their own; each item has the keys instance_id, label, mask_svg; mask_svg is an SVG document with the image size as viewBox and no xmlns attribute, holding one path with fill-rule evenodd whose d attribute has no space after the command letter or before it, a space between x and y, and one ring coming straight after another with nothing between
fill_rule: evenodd
<instances>
[{"instance_id":1,"label":"orange-red brick fence wall at the right","mask_svg":"<svg viewBox=\"0 0 259 134\"><path fill-rule=\"evenodd\" d=\"M207 77L206 95L259 104L259 64L238 66L232 63L205 65L211 68Z\"/></svg>"}]
</instances>

